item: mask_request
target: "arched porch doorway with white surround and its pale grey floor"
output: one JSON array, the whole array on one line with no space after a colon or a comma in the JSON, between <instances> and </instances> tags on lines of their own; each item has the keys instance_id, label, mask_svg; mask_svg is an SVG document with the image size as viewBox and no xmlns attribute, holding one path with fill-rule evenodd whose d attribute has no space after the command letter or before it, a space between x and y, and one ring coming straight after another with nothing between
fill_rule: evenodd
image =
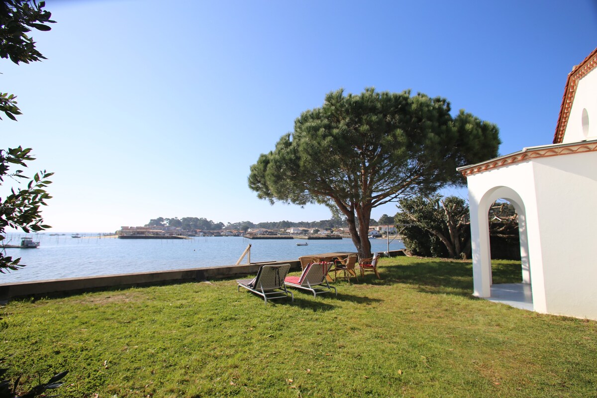
<instances>
[{"instance_id":1,"label":"arched porch doorway with white surround and its pale grey floor","mask_svg":"<svg viewBox=\"0 0 597 398\"><path fill-rule=\"evenodd\" d=\"M491 275L491 243L489 210L498 199L507 200L518 214L518 232L521 251L521 283L493 285ZM500 301L515 307L533 310L531 290L531 259L528 249L527 212L524 201L513 189L506 186L493 187L478 202L470 203L471 233L473 236L473 283L474 295ZM478 237L478 239L474 239Z\"/></svg>"}]
</instances>

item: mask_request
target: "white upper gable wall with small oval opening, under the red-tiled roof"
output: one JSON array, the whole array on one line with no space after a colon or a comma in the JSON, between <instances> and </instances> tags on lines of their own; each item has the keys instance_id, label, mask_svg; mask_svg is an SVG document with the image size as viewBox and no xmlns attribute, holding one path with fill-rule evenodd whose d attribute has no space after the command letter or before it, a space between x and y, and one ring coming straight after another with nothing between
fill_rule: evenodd
<instances>
[{"instance_id":1,"label":"white upper gable wall with small oval opening, under the red-tiled roof","mask_svg":"<svg viewBox=\"0 0 597 398\"><path fill-rule=\"evenodd\" d=\"M574 102L564 132L562 143L573 143L597 138L597 69L593 69L578 81ZM586 109L583 128L583 110Z\"/></svg>"}]
</instances>

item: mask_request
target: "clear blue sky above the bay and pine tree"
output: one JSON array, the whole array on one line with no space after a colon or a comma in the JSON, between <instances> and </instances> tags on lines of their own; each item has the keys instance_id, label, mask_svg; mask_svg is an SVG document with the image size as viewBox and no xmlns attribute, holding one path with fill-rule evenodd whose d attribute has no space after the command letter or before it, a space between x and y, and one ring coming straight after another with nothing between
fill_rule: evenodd
<instances>
[{"instance_id":1,"label":"clear blue sky above the bay and pine tree","mask_svg":"<svg viewBox=\"0 0 597 398\"><path fill-rule=\"evenodd\" d=\"M441 95L496 123L502 155L549 144L568 72L597 47L589 0L46 3L57 23L33 37L48 60L0 61L23 112L0 125L3 148L56 172L56 232L330 218L257 199L247 176L338 88Z\"/></svg>"}]
</instances>

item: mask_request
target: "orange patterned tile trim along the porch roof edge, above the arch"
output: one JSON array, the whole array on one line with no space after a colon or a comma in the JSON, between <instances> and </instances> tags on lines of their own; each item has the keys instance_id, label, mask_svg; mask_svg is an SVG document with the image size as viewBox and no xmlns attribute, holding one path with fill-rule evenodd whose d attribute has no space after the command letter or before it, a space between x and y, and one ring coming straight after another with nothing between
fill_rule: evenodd
<instances>
[{"instance_id":1,"label":"orange patterned tile trim along the porch roof edge, above the arch","mask_svg":"<svg viewBox=\"0 0 597 398\"><path fill-rule=\"evenodd\" d=\"M571 153L583 152L597 152L597 140L529 147L519 152L510 153L510 155L500 156L500 158L477 163L476 165L459 167L457 170L460 171L464 177L468 177L469 175L477 174L479 172L530 161L532 159L549 158L550 156L570 155Z\"/></svg>"}]
</instances>

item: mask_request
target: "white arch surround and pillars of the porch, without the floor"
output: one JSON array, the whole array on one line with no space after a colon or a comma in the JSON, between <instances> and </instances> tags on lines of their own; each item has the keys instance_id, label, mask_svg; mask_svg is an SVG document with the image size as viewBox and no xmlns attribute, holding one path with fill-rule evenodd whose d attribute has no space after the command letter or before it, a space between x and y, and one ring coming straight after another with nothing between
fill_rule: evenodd
<instances>
[{"instance_id":1,"label":"white arch surround and pillars of the porch, without the floor","mask_svg":"<svg viewBox=\"0 0 597 398\"><path fill-rule=\"evenodd\" d=\"M506 199L518 213L520 236L522 282L531 283L530 255L527 236L527 211L524 200L510 187L496 186L488 189L478 202L471 200L470 230L473 255L473 295L491 297L491 250L489 238L488 212L497 199Z\"/></svg>"}]
</instances>

